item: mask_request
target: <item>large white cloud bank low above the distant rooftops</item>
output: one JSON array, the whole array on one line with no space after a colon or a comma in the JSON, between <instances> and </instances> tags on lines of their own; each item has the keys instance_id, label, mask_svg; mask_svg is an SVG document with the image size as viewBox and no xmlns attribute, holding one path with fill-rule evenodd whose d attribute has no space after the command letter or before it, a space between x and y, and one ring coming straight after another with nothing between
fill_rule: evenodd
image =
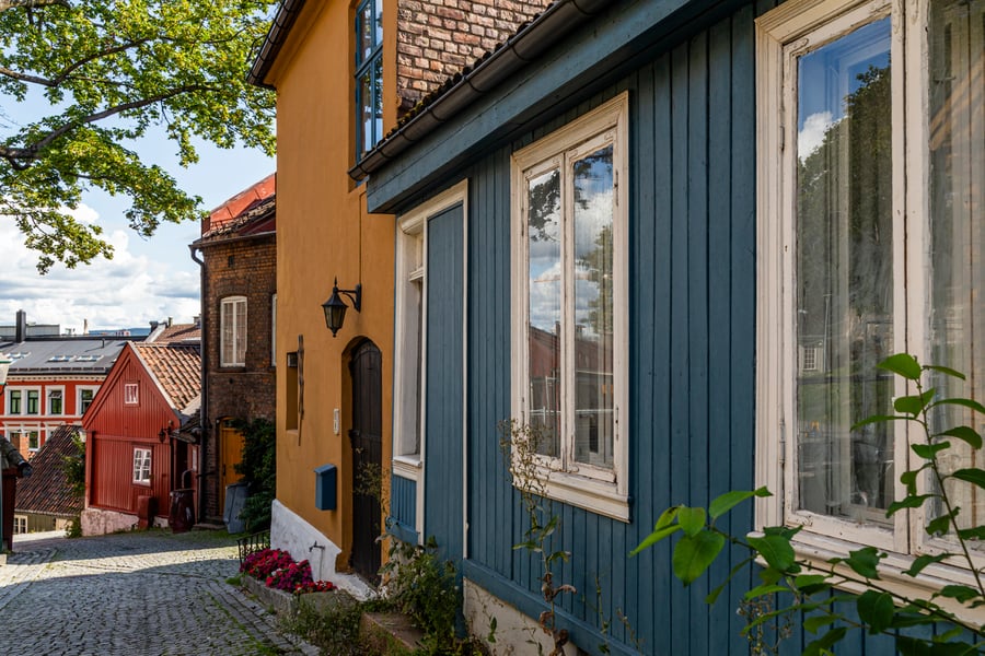
<instances>
[{"instance_id":1,"label":"large white cloud bank low above the distant rooftops","mask_svg":"<svg viewBox=\"0 0 985 656\"><path fill-rule=\"evenodd\" d=\"M86 224L103 223L99 212L80 206L72 215ZM0 277L0 324L13 323L23 309L27 320L58 324L62 330L135 328L151 320L173 317L189 323L199 314L198 268L188 256L186 230L162 226L151 241L154 248L138 254L132 233L109 230L104 238L114 247L112 260L97 258L91 265L67 269L55 265L46 276L37 272L37 254L24 246L24 237L10 219L0 216L3 246ZM179 231L177 238L166 234ZM164 233L163 235L161 233Z\"/></svg>"}]
</instances>

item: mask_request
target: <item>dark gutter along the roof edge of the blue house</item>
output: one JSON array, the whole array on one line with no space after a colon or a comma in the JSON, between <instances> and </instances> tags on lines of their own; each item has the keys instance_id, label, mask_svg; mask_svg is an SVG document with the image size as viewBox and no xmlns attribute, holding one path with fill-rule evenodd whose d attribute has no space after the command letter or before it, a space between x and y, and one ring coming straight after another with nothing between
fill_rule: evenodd
<instances>
[{"instance_id":1,"label":"dark gutter along the roof edge of the blue house","mask_svg":"<svg viewBox=\"0 0 985 656\"><path fill-rule=\"evenodd\" d=\"M558 0L471 70L455 74L444 93L425 105L418 114L413 114L395 132L381 141L349 169L349 176L360 180L379 171L390 160L454 118L462 109L611 5L612 0Z\"/></svg>"}]
</instances>

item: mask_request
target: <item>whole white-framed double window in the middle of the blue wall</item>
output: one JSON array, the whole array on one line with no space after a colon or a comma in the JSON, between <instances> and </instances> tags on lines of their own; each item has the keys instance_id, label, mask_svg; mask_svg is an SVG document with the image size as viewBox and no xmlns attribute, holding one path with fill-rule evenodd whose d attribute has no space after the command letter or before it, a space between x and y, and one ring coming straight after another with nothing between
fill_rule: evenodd
<instances>
[{"instance_id":1,"label":"whole white-framed double window in the middle of the blue wall","mask_svg":"<svg viewBox=\"0 0 985 656\"><path fill-rule=\"evenodd\" d=\"M627 115L623 94L517 152L511 231L513 418L549 495L624 520Z\"/></svg>"}]
</instances>

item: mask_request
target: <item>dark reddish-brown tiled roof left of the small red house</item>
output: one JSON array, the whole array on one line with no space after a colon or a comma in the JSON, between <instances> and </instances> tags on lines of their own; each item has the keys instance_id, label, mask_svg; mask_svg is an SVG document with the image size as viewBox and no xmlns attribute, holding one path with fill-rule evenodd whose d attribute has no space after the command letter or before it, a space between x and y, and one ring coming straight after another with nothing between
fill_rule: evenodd
<instances>
[{"instance_id":1,"label":"dark reddish-brown tiled roof left of the small red house","mask_svg":"<svg viewBox=\"0 0 985 656\"><path fill-rule=\"evenodd\" d=\"M82 499L72 496L62 462L81 456L72 437L82 429L63 425L55 429L31 460L34 473L18 480L14 509L18 513L73 517L82 512Z\"/></svg>"}]
</instances>

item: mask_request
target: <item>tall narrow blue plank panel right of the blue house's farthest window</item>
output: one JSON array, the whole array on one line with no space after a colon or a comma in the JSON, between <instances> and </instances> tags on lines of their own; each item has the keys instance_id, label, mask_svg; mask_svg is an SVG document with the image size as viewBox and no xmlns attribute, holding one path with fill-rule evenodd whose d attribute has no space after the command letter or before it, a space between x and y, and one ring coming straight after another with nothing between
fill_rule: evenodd
<instances>
[{"instance_id":1,"label":"tall narrow blue plank panel right of the blue house's farthest window","mask_svg":"<svg viewBox=\"0 0 985 656\"><path fill-rule=\"evenodd\" d=\"M425 400L425 537L440 536L448 558L462 557L464 289L462 206L428 220Z\"/></svg>"}]
</instances>

